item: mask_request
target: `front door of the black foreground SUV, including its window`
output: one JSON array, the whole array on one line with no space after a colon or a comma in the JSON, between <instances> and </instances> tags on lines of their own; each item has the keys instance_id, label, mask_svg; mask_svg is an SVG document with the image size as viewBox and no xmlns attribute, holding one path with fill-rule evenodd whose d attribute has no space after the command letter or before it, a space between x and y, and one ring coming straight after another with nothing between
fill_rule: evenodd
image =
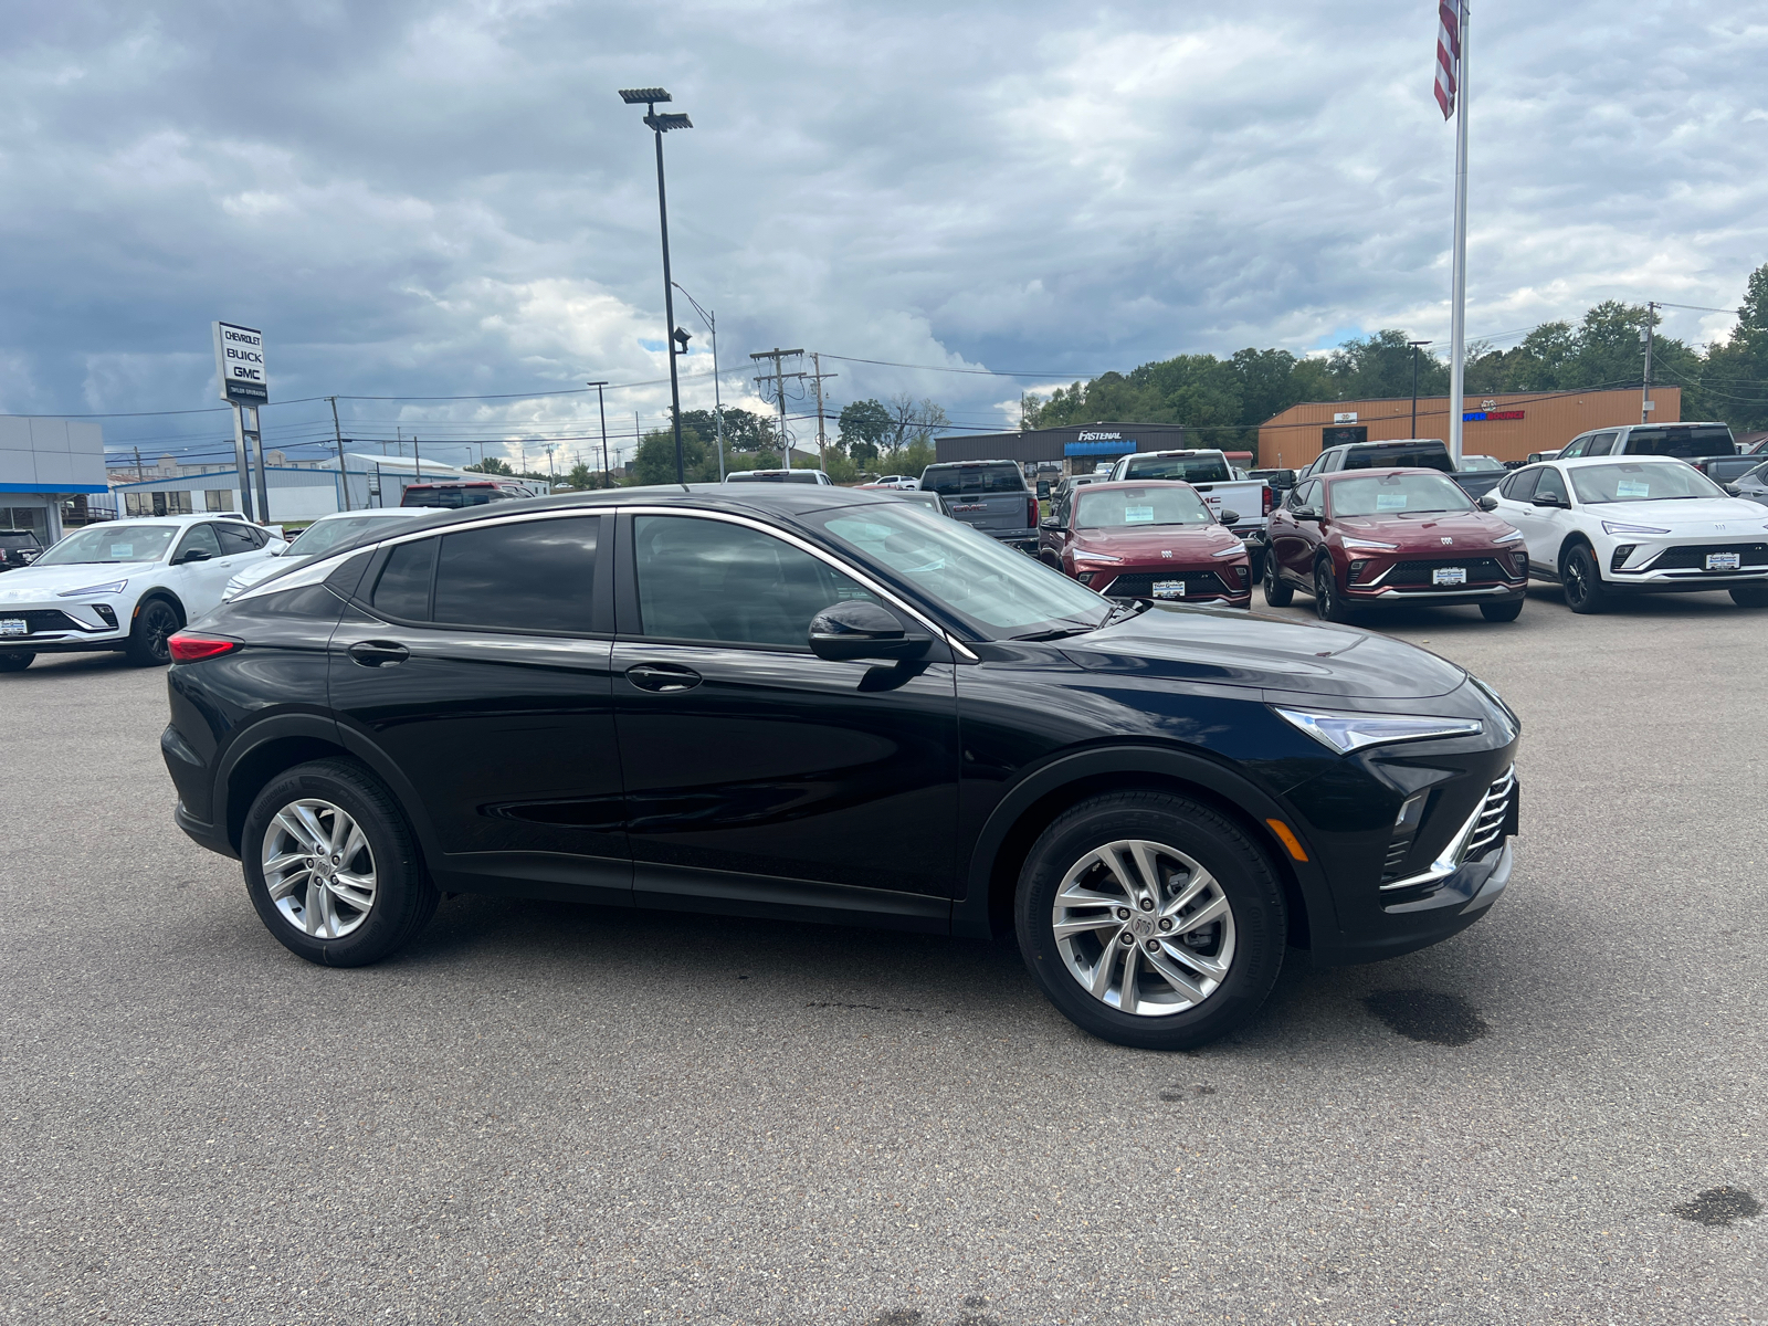
<instances>
[{"instance_id":1,"label":"front door of the black foreground SUV, including its window","mask_svg":"<svg viewBox=\"0 0 1768 1326\"><path fill-rule=\"evenodd\" d=\"M810 621L880 596L743 516L621 516L615 725L640 905L868 912L942 930L956 879L956 677L827 661Z\"/></svg>"}]
</instances>

